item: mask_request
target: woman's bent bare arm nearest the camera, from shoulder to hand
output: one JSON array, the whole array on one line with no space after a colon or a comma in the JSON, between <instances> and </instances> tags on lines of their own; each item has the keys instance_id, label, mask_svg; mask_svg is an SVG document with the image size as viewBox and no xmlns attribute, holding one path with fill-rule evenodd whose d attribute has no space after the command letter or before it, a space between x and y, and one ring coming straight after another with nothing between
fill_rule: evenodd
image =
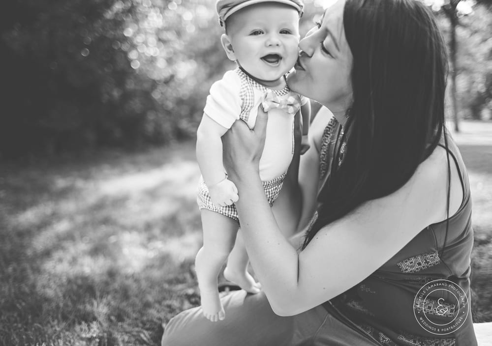
<instances>
[{"instance_id":1,"label":"woman's bent bare arm nearest the camera, from shoulder to hand","mask_svg":"<svg viewBox=\"0 0 492 346\"><path fill-rule=\"evenodd\" d=\"M262 122L258 133L266 126ZM226 150L224 159L239 190L236 206L249 258L278 315L299 314L353 287L419 231L445 218L446 155L438 147L398 191L365 202L326 226L298 254L278 229L258 176L262 135L237 125L230 136L225 135L226 141L250 141L253 150L244 152L247 145L229 143L227 147L233 152ZM256 137L248 138L251 133ZM256 149L253 143L258 143ZM236 150L238 147L241 149ZM453 165L452 172L450 212L454 213L462 192Z\"/></svg>"}]
</instances>

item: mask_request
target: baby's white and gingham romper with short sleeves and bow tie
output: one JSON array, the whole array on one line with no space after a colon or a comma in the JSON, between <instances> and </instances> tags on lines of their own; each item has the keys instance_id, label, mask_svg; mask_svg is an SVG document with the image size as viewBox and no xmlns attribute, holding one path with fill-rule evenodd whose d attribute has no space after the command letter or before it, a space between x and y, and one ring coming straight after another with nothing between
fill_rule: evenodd
<instances>
[{"instance_id":1,"label":"baby's white and gingham romper with short sleeves and bow tie","mask_svg":"<svg viewBox=\"0 0 492 346\"><path fill-rule=\"evenodd\" d=\"M265 94L272 91L279 99L298 96L287 86L281 90L269 89L254 81L240 68L228 71L210 88L204 116L210 116L225 128L230 128L236 119L245 121L249 128L253 128L258 105ZM307 99L301 97L301 104L304 105L306 102ZM267 138L260 159L260 177L268 202L273 205L282 188L283 179L294 153L294 115L280 109L270 110L268 115ZM203 177L200 177L198 184L197 202L200 209L215 211L239 223L234 204L216 207L211 202Z\"/></svg>"}]
</instances>

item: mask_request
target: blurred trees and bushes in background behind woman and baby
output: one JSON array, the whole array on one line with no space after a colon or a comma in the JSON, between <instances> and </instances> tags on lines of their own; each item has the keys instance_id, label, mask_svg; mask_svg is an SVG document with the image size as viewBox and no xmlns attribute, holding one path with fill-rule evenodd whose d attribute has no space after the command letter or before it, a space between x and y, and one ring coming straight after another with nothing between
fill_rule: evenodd
<instances>
[{"instance_id":1,"label":"blurred trees and bushes in background behind woman and baby","mask_svg":"<svg viewBox=\"0 0 492 346\"><path fill-rule=\"evenodd\" d=\"M321 7L306 1L301 33ZM461 109L491 102L491 12L459 31ZM134 148L193 136L234 65L215 0L14 0L0 13L0 158Z\"/></svg>"}]
</instances>

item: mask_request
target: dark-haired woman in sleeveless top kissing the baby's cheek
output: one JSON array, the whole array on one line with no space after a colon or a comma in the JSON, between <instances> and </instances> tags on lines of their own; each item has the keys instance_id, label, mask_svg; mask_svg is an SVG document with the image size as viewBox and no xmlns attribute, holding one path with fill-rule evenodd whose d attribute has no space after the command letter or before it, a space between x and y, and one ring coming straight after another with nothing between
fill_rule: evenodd
<instances>
[{"instance_id":1,"label":"dark-haired woman in sleeveless top kissing the baby's cheek","mask_svg":"<svg viewBox=\"0 0 492 346\"><path fill-rule=\"evenodd\" d=\"M235 124L224 164L262 292L226 296L217 323L185 311L162 345L476 345L471 200L444 131L432 14L414 0L340 0L299 46L289 86L334 115L315 117L300 162L301 225L314 213L301 251L258 176L266 116L254 131Z\"/></svg>"}]
</instances>

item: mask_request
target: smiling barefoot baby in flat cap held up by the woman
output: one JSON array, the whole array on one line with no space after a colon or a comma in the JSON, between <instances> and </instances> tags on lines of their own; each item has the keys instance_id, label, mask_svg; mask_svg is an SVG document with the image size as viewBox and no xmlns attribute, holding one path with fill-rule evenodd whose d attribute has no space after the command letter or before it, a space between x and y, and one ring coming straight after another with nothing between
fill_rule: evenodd
<instances>
[{"instance_id":1,"label":"smiling barefoot baby in flat cap held up by the woman","mask_svg":"<svg viewBox=\"0 0 492 346\"><path fill-rule=\"evenodd\" d=\"M268 112L260 177L270 205L282 188L294 153L294 116L303 116L303 143L307 142L309 102L290 91L286 75L298 58L301 0L218 0L221 43L238 67L228 71L210 88L197 131L196 156L202 177L197 202L201 209L203 247L195 268L204 316L211 321L225 317L217 291L217 276L229 256L224 277L250 293L260 286L247 272L244 246L234 246L239 199L222 163L220 137L241 119L253 128L261 105ZM298 115L299 116L299 115ZM240 244L240 242L238 242ZM230 255L229 255L230 254Z\"/></svg>"}]
</instances>

